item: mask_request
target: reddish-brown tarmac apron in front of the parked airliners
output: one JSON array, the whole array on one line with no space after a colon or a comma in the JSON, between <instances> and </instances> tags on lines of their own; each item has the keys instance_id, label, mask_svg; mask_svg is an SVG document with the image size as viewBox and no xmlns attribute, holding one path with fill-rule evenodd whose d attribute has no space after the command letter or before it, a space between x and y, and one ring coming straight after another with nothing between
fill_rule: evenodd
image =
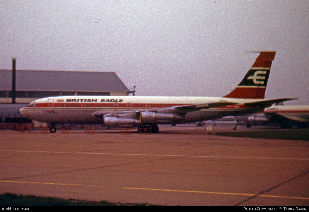
<instances>
[{"instance_id":1,"label":"reddish-brown tarmac apron in front of the parked airliners","mask_svg":"<svg viewBox=\"0 0 309 212\"><path fill-rule=\"evenodd\" d=\"M309 205L308 141L223 137L194 125L159 128L159 134L0 130L0 193L169 206Z\"/></svg>"}]
</instances>

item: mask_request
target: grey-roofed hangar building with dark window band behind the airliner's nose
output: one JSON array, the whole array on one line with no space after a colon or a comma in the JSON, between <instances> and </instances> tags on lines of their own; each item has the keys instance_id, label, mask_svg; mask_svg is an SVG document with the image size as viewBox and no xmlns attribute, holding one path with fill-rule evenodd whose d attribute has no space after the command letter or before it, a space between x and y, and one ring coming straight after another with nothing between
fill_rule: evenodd
<instances>
[{"instance_id":1,"label":"grey-roofed hangar building with dark window band behind the airliner's nose","mask_svg":"<svg viewBox=\"0 0 309 212\"><path fill-rule=\"evenodd\" d=\"M61 95L129 95L114 72L16 70L16 103ZM0 70L0 103L12 102L12 70Z\"/></svg>"}]
</instances>

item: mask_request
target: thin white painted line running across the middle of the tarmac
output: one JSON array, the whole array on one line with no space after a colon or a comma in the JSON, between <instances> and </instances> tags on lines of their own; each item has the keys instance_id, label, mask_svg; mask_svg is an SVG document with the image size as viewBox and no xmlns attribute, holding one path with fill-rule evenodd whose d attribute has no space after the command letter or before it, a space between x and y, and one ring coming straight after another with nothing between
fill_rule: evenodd
<instances>
[{"instance_id":1,"label":"thin white painted line running across the middle of the tarmac","mask_svg":"<svg viewBox=\"0 0 309 212\"><path fill-rule=\"evenodd\" d=\"M52 152L52 151L26 151L26 150L0 150L0 151L2 151L2 152L58 153L58 154L167 156L167 157L193 157L193 158L234 158L234 159L309 160L309 158L268 158L268 157L237 157L237 156L211 156L211 155L161 155L161 154L129 154L129 153L103 153L103 152Z\"/></svg>"}]
</instances>

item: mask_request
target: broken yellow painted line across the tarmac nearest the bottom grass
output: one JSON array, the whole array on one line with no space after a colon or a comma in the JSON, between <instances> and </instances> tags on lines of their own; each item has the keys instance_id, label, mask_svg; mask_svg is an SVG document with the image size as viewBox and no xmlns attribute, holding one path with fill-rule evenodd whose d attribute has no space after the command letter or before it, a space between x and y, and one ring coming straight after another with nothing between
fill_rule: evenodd
<instances>
[{"instance_id":1,"label":"broken yellow painted line across the tarmac nearest the bottom grass","mask_svg":"<svg viewBox=\"0 0 309 212\"><path fill-rule=\"evenodd\" d=\"M70 183L46 183L46 182L13 181L13 180L0 180L0 182L6 182L6 183L28 183L28 184L45 184L45 185L90 186L90 187L99 187L99 188L114 188L114 187L110 187L110 186L83 185L83 184L70 184ZM121 189L150 190L150 191L169 191L169 192L183 192L183 193L205 193L205 194L255 196L255 194L248 194L248 193L226 193L226 192L188 191L188 190L172 190L172 189L149 189L149 188L133 188L133 187L122 187ZM265 194L259 194L257 196L259 196L259 197L274 197L274 198L288 198L288 199L304 199L304 200L309 200L309 197L290 197L290 196L276 196L276 195L265 195Z\"/></svg>"}]
</instances>

